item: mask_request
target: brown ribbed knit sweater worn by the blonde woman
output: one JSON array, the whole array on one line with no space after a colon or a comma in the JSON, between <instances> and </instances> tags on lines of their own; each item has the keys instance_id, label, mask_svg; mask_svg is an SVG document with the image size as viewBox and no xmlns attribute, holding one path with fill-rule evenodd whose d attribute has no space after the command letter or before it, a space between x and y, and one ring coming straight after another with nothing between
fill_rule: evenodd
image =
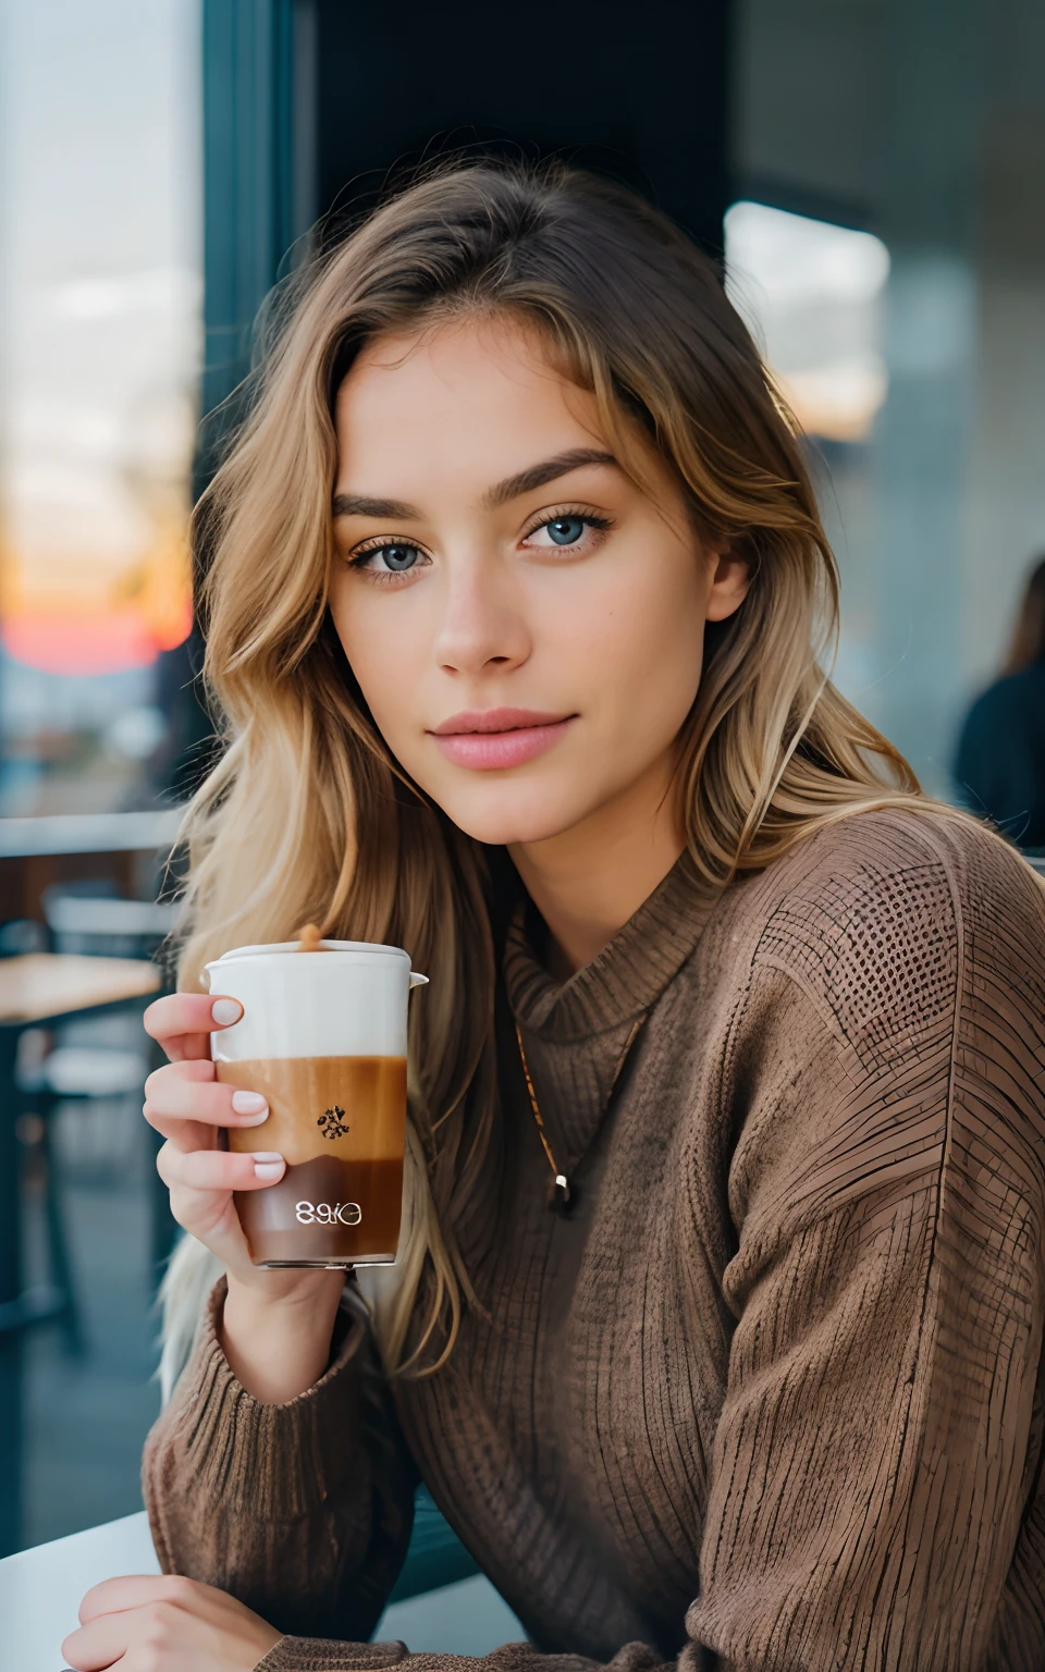
<instances>
[{"instance_id":1,"label":"brown ribbed knit sweater worn by the blonde woman","mask_svg":"<svg viewBox=\"0 0 1045 1672\"><path fill-rule=\"evenodd\" d=\"M483 1311L390 1388L349 1309L323 1381L263 1406L216 1292L145 1455L164 1567L289 1634L264 1672L455 1672L366 1644L420 1476L532 1637L490 1672L1042 1672L1030 871L861 814L716 901L681 861L565 985L520 930L505 991L575 1214L505 1013Z\"/></svg>"}]
</instances>

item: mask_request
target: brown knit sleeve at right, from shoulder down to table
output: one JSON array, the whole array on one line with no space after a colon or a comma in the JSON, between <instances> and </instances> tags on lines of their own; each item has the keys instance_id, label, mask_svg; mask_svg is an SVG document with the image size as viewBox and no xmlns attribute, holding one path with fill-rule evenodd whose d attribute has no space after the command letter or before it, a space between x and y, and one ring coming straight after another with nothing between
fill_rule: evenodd
<instances>
[{"instance_id":1,"label":"brown knit sleeve at right, from shoulder down to table","mask_svg":"<svg viewBox=\"0 0 1045 1672\"><path fill-rule=\"evenodd\" d=\"M786 905L754 956L722 1067L737 1323L679 1672L1045 1665L1045 1597L1007 1593L1035 1583L1042 1513L1045 908L963 841L936 823L920 864L834 879L819 921ZM391 1664L477 1669L304 1639L261 1669Z\"/></svg>"}]
</instances>

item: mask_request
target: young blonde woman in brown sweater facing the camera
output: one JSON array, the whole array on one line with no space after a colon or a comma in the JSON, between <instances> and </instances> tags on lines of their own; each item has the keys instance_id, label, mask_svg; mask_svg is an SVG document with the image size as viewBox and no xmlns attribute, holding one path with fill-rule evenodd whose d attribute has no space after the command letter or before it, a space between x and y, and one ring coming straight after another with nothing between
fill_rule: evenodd
<instances>
[{"instance_id":1,"label":"young blonde woman in brown sweater facing the camera","mask_svg":"<svg viewBox=\"0 0 1045 1672\"><path fill-rule=\"evenodd\" d=\"M145 1456L167 1578L77 1669L366 1644L418 1480L495 1669L1045 1665L1045 893L828 684L836 575L714 269L465 167L323 263L204 507L227 751L145 1114L214 1286ZM257 1271L202 961L410 950L391 1279ZM196 1324L192 1318L192 1324ZM182 1577L172 1577L182 1575Z\"/></svg>"}]
</instances>

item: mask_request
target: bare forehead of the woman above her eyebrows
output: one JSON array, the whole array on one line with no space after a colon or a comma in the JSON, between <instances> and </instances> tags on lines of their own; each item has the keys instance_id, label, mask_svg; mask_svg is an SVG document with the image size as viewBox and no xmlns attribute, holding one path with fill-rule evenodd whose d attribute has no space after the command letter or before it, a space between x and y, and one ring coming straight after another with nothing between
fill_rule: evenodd
<instances>
[{"instance_id":1,"label":"bare forehead of the woman above her eyebrows","mask_svg":"<svg viewBox=\"0 0 1045 1672\"><path fill-rule=\"evenodd\" d=\"M500 480L573 446L605 446L595 398L510 319L371 343L336 400L338 485L373 493L421 472Z\"/></svg>"}]
</instances>

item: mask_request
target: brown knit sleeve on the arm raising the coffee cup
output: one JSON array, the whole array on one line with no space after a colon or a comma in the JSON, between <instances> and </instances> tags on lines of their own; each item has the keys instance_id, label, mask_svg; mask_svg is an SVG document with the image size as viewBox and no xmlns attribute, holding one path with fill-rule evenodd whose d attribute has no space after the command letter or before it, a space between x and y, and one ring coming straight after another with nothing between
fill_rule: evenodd
<instances>
[{"instance_id":1,"label":"brown knit sleeve on the arm raising the coffee cup","mask_svg":"<svg viewBox=\"0 0 1045 1672\"><path fill-rule=\"evenodd\" d=\"M261 1404L217 1339L224 1279L145 1443L142 1486L164 1573L217 1585L284 1632L370 1637L410 1543L415 1465L361 1309L329 1369Z\"/></svg>"}]
</instances>

